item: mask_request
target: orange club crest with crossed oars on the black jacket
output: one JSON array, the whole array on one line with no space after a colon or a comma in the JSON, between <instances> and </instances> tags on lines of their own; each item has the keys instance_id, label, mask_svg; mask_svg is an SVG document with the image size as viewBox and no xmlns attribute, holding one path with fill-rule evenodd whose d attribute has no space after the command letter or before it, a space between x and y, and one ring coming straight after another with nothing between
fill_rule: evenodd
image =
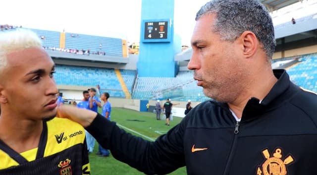
<instances>
[{"instance_id":1,"label":"orange club crest with crossed oars on the black jacket","mask_svg":"<svg viewBox=\"0 0 317 175\"><path fill-rule=\"evenodd\" d=\"M286 175L286 165L294 161L291 155L287 156L284 161L282 158L282 149L276 148L273 153L273 157L270 158L268 149L262 151L263 156L266 158L266 161L257 169L257 175Z\"/></svg>"}]
</instances>

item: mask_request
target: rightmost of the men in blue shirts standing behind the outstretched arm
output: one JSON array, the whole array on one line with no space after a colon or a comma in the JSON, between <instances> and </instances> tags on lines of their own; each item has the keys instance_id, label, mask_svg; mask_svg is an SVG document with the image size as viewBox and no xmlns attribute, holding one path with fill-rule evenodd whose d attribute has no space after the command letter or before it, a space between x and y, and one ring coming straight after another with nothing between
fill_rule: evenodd
<instances>
[{"instance_id":1,"label":"rightmost of the men in blue shirts standing behind the outstretched arm","mask_svg":"<svg viewBox=\"0 0 317 175\"><path fill-rule=\"evenodd\" d=\"M106 119L110 120L110 114L111 114L111 104L108 102L108 98L110 97L109 93L104 92L101 95L101 100L104 102L103 105L103 116L106 117ZM110 152L109 150L103 148L100 144L99 144L99 152L98 155L107 157L109 156Z\"/></svg>"}]
</instances>

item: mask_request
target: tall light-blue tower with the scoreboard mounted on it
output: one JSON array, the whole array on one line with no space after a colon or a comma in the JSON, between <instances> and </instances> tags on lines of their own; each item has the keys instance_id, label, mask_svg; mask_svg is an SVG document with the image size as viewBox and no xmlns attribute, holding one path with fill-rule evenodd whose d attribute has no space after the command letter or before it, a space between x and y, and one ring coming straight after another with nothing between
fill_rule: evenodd
<instances>
[{"instance_id":1,"label":"tall light-blue tower with the scoreboard mounted on it","mask_svg":"<svg viewBox=\"0 0 317 175\"><path fill-rule=\"evenodd\" d=\"M174 0L142 0L139 60L140 77L174 77L174 56L181 40L174 37Z\"/></svg>"}]
</instances>

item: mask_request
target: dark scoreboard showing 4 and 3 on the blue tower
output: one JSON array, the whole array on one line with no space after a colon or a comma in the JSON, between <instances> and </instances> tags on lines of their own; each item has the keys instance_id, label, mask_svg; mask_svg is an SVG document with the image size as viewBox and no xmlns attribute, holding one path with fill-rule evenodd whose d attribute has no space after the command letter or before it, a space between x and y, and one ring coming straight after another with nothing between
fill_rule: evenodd
<instances>
[{"instance_id":1,"label":"dark scoreboard showing 4 and 3 on the blue tower","mask_svg":"<svg viewBox=\"0 0 317 175\"><path fill-rule=\"evenodd\" d=\"M142 42L170 42L171 29L169 20L143 21Z\"/></svg>"}]
</instances>

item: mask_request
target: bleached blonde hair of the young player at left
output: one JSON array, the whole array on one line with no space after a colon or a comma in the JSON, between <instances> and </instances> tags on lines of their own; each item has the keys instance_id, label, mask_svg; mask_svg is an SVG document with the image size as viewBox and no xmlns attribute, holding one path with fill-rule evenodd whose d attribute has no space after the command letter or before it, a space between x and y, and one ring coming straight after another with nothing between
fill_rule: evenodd
<instances>
[{"instance_id":1,"label":"bleached blonde hair of the young player at left","mask_svg":"<svg viewBox=\"0 0 317 175\"><path fill-rule=\"evenodd\" d=\"M26 29L0 32L0 72L7 65L7 55L27 48L42 47L36 33Z\"/></svg>"}]
</instances>

